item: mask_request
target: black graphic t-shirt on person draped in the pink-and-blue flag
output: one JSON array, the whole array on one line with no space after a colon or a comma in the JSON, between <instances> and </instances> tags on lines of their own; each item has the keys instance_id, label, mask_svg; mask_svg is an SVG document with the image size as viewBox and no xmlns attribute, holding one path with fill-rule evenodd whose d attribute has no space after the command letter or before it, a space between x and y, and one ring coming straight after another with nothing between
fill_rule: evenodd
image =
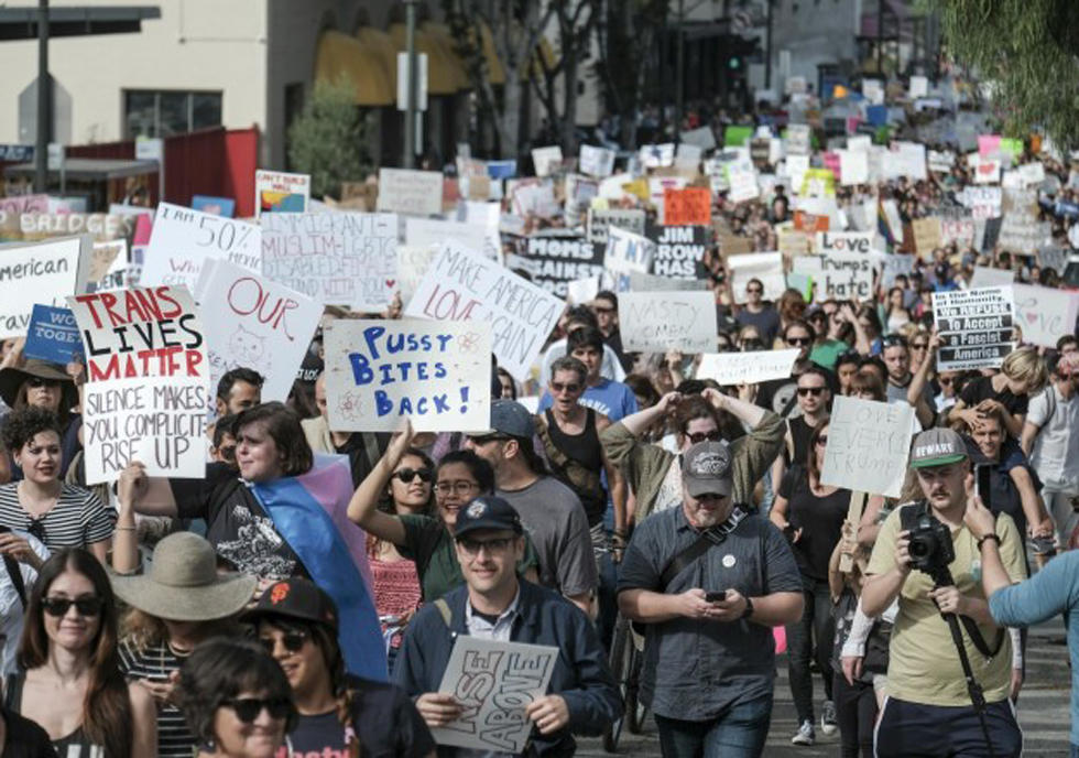
<instances>
[{"instance_id":1,"label":"black graphic t-shirt on person draped in the pink-and-blue flag","mask_svg":"<svg viewBox=\"0 0 1079 758\"><path fill-rule=\"evenodd\" d=\"M254 495L224 463L206 466L204 479L171 479L183 519L205 519L206 539L229 567L260 578L286 580L307 572Z\"/></svg>"}]
</instances>

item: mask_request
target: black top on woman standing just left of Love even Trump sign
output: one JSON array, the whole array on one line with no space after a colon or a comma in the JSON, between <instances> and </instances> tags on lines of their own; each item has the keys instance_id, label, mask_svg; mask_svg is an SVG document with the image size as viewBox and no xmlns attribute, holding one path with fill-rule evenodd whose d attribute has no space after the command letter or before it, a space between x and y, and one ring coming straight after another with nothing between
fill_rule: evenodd
<instances>
[{"instance_id":1,"label":"black top on woman standing just left of Love even Trump sign","mask_svg":"<svg viewBox=\"0 0 1079 758\"><path fill-rule=\"evenodd\" d=\"M842 537L843 520L850 508L850 490L837 489L817 497L809 489L809 473L795 465L780 483L780 496L787 500L787 521L802 530L792 545L798 570L806 576L828 581L828 561Z\"/></svg>"}]
</instances>

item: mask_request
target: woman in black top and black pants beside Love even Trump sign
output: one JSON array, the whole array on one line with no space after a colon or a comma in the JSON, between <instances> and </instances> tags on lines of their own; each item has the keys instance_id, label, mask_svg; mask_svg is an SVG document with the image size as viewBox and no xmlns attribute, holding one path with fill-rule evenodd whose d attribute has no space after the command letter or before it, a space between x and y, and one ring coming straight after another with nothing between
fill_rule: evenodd
<instances>
[{"instance_id":1,"label":"woman in black top and black pants beside Love even Trump sign","mask_svg":"<svg viewBox=\"0 0 1079 758\"><path fill-rule=\"evenodd\" d=\"M813 674L809 660L816 658L825 682L825 706L821 730L833 734L837 728L836 708L831 697L831 652L835 634L831 595L828 585L828 563L842 538L843 521L850 507L850 490L820 483L820 470L828 445L828 420L817 423L809 436L809 448L802 462L795 463L776 489L775 502L769 518L791 541L798 570L802 573L805 610L797 624L787 626L789 649L788 669L791 694L798 713L798 730L794 745L813 745L814 725ZM874 508L883 505L872 498Z\"/></svg>"}]
</instances>

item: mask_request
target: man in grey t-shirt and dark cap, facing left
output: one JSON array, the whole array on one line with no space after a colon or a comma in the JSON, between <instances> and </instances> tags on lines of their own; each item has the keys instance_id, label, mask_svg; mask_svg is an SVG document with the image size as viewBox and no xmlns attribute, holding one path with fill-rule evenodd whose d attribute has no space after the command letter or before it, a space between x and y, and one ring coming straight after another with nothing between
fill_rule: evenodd
<instances>
[{"instance_id":1,"label":"man in grey t-shirt and dark cap, facing left","mask_svg":"<svg viewBox=\"0 0 1079 758\"><path fill-rule=\"evenodd\" d=\"M535 422L513 400L491 405L491 430L469 435L465 447L494 468L494 492L521 515L540 554L540 583L591 614L599 584L588 517L566 485L545 474L533 444Z\"/></svg>"}]
</instances>

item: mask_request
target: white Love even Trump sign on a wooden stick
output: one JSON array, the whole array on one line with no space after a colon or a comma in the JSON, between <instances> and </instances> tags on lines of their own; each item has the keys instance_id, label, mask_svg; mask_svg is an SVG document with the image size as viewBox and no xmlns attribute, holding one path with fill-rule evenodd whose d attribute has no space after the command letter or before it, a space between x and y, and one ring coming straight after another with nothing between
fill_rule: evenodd
<instances>
[{"instance_id":1,"label":"white Love even Trump sign on a wooden stick","mask_svg":"<svg viewBox=\"0 0 1079 758\"><path fill-rule=\"evenodd\" d=\"M820 484L900 497L912 429L913 405L836 396Z\"/></svg>"}]
</instances>

